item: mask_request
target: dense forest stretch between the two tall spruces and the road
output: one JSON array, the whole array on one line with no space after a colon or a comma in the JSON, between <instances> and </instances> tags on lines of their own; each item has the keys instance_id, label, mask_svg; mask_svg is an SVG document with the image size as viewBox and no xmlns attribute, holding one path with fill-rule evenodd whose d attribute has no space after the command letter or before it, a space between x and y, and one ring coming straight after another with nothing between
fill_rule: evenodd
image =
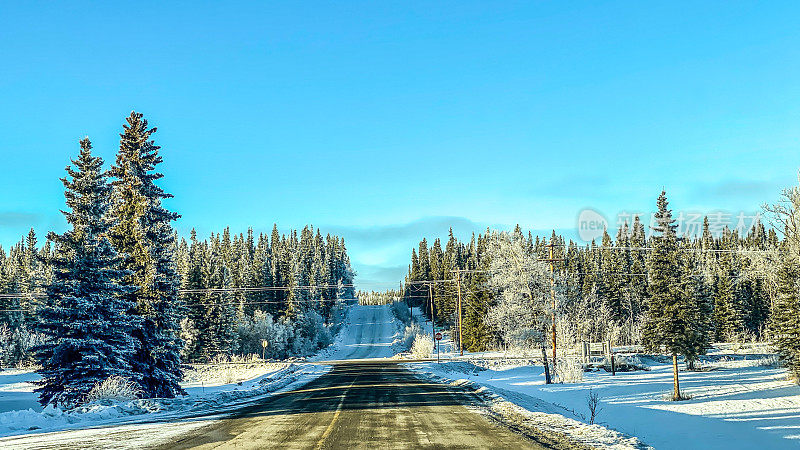
<instances>
[{"instance_id":1,"label":"dense forest stretch between the two tall spruces and the road","mask_svg":"<svg viewBox=\"0 0 800 450\"><path fill-rule=\"evenodd\" d=\"M186 292L183 351L190 361L309 354L329 343L326 327L338 323L343 302L355 299L344 240L323 237L312 226L280 234L275 225L257 238L252 229L231 237L226 228L203 241L192 230L176 255Z\"/></svg>"}]
</instances>

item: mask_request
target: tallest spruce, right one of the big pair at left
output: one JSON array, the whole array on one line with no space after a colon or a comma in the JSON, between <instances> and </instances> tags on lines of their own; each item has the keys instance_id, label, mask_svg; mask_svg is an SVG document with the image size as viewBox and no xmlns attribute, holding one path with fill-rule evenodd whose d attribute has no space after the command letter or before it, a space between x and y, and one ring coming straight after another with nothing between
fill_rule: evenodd
<instances>
[{"instance_id":1,"label":"tallest spruce, right one of the big pair at left","mask_svg":"<svg viewBox=\"0 0 800 450\"><path fill-rule=\"evenodd\" d=\"M114 177L111 214L116 220L111 237L124 254L123 265L131 274L128 285L133 314L141 318L134 331L138 348L133 360L136 380L145 396L174 397L183 393L178 384L180 368L180 321L184 308L178 298L179 275L174 260L175 235L171 222L180 217L167 211L161 201L172 195L155 184L162 162L142 114L132 112L120 135Z\"/></svg>"}]
</instances>

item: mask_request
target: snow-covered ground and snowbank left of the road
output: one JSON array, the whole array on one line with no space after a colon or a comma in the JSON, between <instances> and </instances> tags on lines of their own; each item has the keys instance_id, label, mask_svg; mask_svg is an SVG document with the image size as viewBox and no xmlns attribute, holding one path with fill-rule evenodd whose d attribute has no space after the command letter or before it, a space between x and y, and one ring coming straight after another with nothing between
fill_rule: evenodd
<instances>
[{"instance_id":1,"label":"snow-covered ground and snowbank left of the road","mask_svg":"<svg viewBox=\"0 0 800 450\"><path fill-rule=\"evenodd\" d=\"M80 410L0 413L0 448L141 448L192 429L269 395L298 388L326 366L292 364L241 384L187 388L188 396L93 405ZM28 428L25 428L28 427Z\"/></svg>"}]
</instances>

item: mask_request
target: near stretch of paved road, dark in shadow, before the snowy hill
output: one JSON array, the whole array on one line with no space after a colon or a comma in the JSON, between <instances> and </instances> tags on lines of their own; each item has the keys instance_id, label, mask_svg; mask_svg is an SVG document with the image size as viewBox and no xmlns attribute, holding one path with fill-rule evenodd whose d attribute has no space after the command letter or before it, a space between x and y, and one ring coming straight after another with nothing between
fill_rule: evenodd
<instances>
[{"instance_id":1,"label":"near stretch of paved road, dark in shadow, before the snowy hill","mask_svg":"<svg viewBox=\"0 0 800 450\"><path fill-rule=\"evenodd\" d=\"M163 448L542 448L391 363L343 363Z\"/></svg>"}]
</instances>

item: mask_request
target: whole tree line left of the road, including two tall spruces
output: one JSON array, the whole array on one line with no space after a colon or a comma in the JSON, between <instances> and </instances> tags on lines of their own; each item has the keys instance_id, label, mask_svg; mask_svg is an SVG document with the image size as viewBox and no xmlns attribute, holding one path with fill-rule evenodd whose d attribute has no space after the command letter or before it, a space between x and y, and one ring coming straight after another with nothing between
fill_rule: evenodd
<instances>
[{"instance_id":1,"label":"whole tree line left of the road, including two tall spruces","mask_svg":"<svg viewBox=\"0 0 800 450\"><path fill-rule=\"evenodd\" d=\"M76 405L110 377L174 397L183 362L262 353L265 340L271 356L311 352L354 296L344 240L311 226L179 239L155 132L132 112L108 170L82 139L61 179L68 230L0 247L0 357L39 366L43 404Z\"/></svg>"}]
</instances>

